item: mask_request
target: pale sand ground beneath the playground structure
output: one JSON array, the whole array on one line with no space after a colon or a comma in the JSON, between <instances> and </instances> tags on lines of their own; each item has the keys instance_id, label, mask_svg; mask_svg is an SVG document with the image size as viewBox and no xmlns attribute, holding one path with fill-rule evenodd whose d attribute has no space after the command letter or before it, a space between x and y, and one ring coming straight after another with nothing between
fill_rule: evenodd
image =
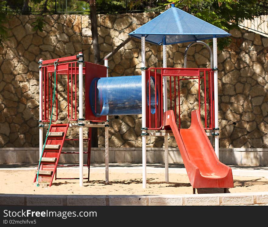
<instances>
[{"instance_id":1,"label":"pale sand ground beneath the playground structure","mask_svg":"<svg viewBox=\"0 0 268 227\"><path fill-rule=\"evenodd\" d=\"M162 168L163 170L163 168ZM51 187L37 187L33 184L35 169L0 168L0 193L6 194L61 194L61 195L168 195L192 194L192 186L186 174L169 173L169 183L165 183L164 171L147 173L147 188L142 188L141 171L109 169L109 184L105 184L105 170L94 169L90 171L90 181L84 180L83 187L79 186L79 179L53 180ZM257 171L257 170L256 170ZM59 168L58 177L79 177L78 168ZM87 172L84 171L84 176ZM234 188L227 189L227 193L267 192L268 178L233 176ZM223 193L224 189L201 188L196 194Z\"/></svg>"}]
</instances>

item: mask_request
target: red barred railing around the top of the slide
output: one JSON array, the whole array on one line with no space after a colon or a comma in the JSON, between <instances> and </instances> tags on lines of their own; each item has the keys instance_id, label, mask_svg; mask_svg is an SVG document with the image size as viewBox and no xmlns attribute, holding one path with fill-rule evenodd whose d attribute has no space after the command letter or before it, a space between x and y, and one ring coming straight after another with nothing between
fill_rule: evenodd
<instances>
[{"instance_id":1,"label":"red barred railing around the top of the slide","mask_svg":"<svg viewBox=\"0 0 268 227\"><path fill-rule=\"evenodd\" d=\"M161 76L161 83L157 84L157 71L160 72L158 76ZM185 80L198 80L198 107L199 114L201 117L201 109L204 111L203 121L204 129L213 129L215 125L214 119L214 88L213 88L213 70L205 68L149 68L149 76L154 76L155 78L155 87L161 86L161 92L159 97L163 95L163 78L166 77L169 80L167 86L168 89L168 100L170 106L168 110L174 110L175 120L178 122L178 128L181 127L181 106L180 106L180 82ZM150 81L150 80L149 80ZM158 80L159 81L159 80ZM201 90L201 83L203 82L203 92ZM151 105L150 100L150 86L149 86L149 106ZM196 94L197 95L197 94ZM156 94L155 94L156 96ZM185 97L186 98L186 97ZM204 99L204 103L201 102L201 98ZM177 103L178 99L178 103ZM159 99L160 100L160 99ZM156 102L156 97L155 100ZM174 102L174 105L172 104ZM163 104L159 103L157 108L163 108ZM178 108L178 113L177 113ZM147 111L148 113L148 111ZM178 119L177 119L178 114ZM149 112L149 127L148 129L162 129L163 122L161 127L151 127L151 117L152 114ZM161 114L155 114L154 122L157 122L157 118L163 119L163 110ZM157 123L155 123L157 124Z\"/></svg>"}]
</instances>

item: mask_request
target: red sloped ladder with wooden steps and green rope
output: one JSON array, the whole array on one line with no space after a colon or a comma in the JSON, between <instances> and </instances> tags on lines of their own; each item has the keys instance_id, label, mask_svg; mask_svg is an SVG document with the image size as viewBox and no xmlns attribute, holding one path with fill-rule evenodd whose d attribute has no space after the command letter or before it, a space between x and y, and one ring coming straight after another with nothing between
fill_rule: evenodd
<instances>
[{"instance_id":1,"label":"red sloped ladder with wooden steps and green rope","mask_svg":"<svg viewBox=\"0 0 268 227\"><path fill-rule=\"evenodd\" d=\"M38 173L39 183L49 183L49 187L52 185L68 127L69 124L51 124L41 157ZM37 180L37 171L33 182Z\"/></svg>"}]
</instances>

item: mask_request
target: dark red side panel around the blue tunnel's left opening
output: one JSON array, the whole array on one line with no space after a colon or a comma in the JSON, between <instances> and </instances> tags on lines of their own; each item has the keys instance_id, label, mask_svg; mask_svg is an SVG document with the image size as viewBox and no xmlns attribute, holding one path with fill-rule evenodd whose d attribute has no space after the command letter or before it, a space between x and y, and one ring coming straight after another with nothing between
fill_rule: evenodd
<instances>
[{"instance_id":1,"label":"dark red side panel around the blue tunnel's left opening","mask_svg":"<svg viewBox=\"0 0 268 227\"><path fill-rule=\"evenodd\" d=\"M106 121L106 116L95 117L90 108L90 84L96 77L106 77L107 67L90 62L85 62L85 119L88 121Z\"/></svg>"}]
</instances>

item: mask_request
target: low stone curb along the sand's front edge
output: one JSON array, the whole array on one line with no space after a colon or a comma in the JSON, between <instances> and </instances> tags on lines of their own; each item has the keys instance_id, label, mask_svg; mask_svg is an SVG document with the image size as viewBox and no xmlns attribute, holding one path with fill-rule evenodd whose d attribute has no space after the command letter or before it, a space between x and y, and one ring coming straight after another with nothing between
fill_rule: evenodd
<instances>
[{"instance_id":1,"label":"low stone curb along the sand's front edge","mask_svg":"<svg viewBox=\"0 0 268 227\"><path fill-rule=\"evenodd\" d=\"M0 205L20 206L268 206L268 192L191 195L0 194Z\"/></svg>"}]
</instances>

